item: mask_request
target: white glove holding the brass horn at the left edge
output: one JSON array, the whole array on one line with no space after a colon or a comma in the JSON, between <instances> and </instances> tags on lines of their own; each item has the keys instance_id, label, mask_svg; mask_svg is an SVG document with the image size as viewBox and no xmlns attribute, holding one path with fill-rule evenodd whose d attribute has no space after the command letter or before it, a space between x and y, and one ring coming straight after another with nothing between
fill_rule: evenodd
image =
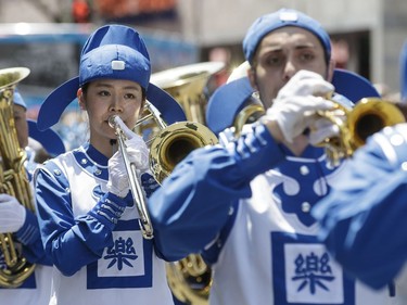
<instances>
[{"instance_id":1,"label":"white glove holding the brass horn at the left edge","mask_svg":"<svg viewBox=\"0 0 407 305\"><path fill-rule=\"evenodd\" d=\"M25 207L9 195L0 194L0 233L13 233L18 231L25 221Z\"/></svg>"}]
</instances>

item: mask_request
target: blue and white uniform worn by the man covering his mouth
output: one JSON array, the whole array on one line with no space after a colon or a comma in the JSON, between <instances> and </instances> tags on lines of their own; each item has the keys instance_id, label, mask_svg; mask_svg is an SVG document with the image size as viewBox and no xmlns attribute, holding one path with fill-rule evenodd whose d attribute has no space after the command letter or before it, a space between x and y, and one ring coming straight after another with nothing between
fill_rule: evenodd
<instances>
[{"instance_id":1,"label":"blue and white uniform worn by the man covering his mouth","mask_svg":"<svg viewBox=\"0 0 407 305\"><path fill-rule=\"evenodd\" d=\"M393 304L356 282L318 240L310 208L333 171L322 149L301 157L260 124L226 148L193 151L149 201L157 247L167 258L201 253L214 271L209 304Z\"/></svg>"}]
</instances>

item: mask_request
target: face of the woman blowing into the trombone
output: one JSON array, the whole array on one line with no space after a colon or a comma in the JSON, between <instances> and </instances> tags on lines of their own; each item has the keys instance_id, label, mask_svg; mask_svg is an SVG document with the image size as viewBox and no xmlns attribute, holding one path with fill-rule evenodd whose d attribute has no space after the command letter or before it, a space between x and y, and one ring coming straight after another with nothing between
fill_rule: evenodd
<instances>
[{"instance_id":1,"label":"face of the woman blowing into the trombone","mask_svg":"<svg viewBox=\"0 0 407 305\"><path fill-rule=\"evenodd\" d=\"M79 105L88 112L90 141L116 139L109 117L119 115L132 128L143 102L139 84L122 79L98 79L89 84L86 93L78 91Z\"/></svg>"}]
</instances>

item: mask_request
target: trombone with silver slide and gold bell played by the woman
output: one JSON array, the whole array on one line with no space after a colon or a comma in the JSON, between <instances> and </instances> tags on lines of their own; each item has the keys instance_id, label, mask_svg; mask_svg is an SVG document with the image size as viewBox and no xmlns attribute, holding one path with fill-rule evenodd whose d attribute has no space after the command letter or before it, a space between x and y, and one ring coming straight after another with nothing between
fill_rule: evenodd
<instances>
[{"instance_id":1,"label":"trombone with silver slide and gold bell played by the woman","mask_svg":"<svg viewBox=\"0 0 407 305\"><path fill-rule=\"evenodd\" d=\"M214 145L218 142L215 134L206 126L196 122L178 122L169 126L161 117L160 111L149 101L144 105L145 115L137 123L135 128L149 118L153 118L160 129L158 134L150 139L150 169L155 180L161 183L174 169L174 167L194 149L204 145ZM127 175L129 187L136 202L136 207L140 215L139 225L145 239L154 237L153 226L147 208L147 199L141 186L136 165L129 161L126 151L126 140L128 135L133 134L118 115L112 115L109 124L115 129L118 150L120 151Z\"/></svg>"}]
</instances>

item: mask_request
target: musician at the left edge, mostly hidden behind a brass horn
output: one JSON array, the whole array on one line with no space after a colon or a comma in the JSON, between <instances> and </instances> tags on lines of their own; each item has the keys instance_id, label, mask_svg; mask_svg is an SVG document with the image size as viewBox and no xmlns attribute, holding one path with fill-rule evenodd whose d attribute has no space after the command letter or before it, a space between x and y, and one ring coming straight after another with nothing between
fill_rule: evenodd
<instances>
[{"instance_id":1,"label":"musician at the left edge, mostly hidden behind a brass horn","mask_svg":"<svg viewBox=\"0 0 407 305\"><path fill-rule=\"evenodd\" d=\"M28 149L28 125L26 120L27 105L17 89L13 94L13 118L16 138L22 151ZM5 143L3 143L5 144ZM15 157L15 156L14 156ZM30 180L31 170L37 164L30 162L28 153L27 161L24 162L25 171ZM8 174L10 176L10 174ZM4 175L7 176L7 175ZM9 178L10 179L10 178ZM1 181L2 183L4 181ZM4 183L5 185L5 183ZM0 287L0 300L2 304L15 305L48 305L51 291L51 262L46 256L42 247L39 226L35 211L24 206L18 200L24 194L22 188L15 189L15 196L10 192L0 194L0 233L13 233L15 237L14 246L17 251L22 251L22 257L27 259L29 264L35 264L34 271L28 274L28 269L23 276L23 281L17 279L16 287ZM4 190L4 187L2 188ZM31 192L31 189L28 189ZM33 203L34 206L34 203ZM4 249L4 247L2 247ZM10 254L10 253L9 253ZM28 265L27 265L28 266ZM34 265L33 265L34 266ZM5 255L0 250L0 268L7 269L4 274L10 272L17 275L17 269L10 269L7 265ZM25 278L27 277L27 278ZM4 279L2 278L2 281ZM11 283L11 282L10 282Z\"/></svg>"}]
</instances>

